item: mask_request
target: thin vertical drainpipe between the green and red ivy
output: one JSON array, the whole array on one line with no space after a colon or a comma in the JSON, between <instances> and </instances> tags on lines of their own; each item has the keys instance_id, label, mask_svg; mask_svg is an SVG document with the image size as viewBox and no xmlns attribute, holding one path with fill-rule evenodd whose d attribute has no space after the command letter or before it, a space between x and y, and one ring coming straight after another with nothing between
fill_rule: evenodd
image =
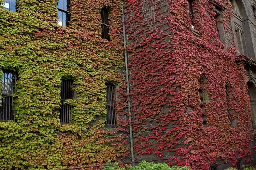
<instances>
[{"instance_id":1,"label":"thin vertical drainpipe between the green and red ivy","mask_svg":"<svg viewBox=\"0 0 256 170\"><path fill-rule=\"evenodd\" d=\"M124 2L123 2L124 4ZM128 95L128 114L129 120L131 121L131 102L130 102L130 85L129 85L129 76L128 76L128 59L127 59L127 49L126 49L126 33L125 33L125 15L124 15L124 6L122 5L122 20L123 20L123 36L124 36L124 48L125 48L125 75L126 75L126 82L127 82L127 95ZM131 145L131 162L132 166L134 167L134 151L133 151L133 135L132 135L132 125L129 124L129 131L130 131L130 145Z\"/></svg>"}]
</instances>

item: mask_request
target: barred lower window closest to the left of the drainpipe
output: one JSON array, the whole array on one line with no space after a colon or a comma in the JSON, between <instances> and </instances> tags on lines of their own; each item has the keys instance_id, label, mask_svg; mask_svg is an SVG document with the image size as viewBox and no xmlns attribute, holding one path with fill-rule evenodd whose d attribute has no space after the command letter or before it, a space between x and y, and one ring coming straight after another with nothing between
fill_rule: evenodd
<instances>
[{"instance_id":1,"label":"barred lower window closest to the left of the drainpipe","mask_svg":"<svg viewBox=\"0 0 256 170\"><path fill-rule=\"evenodd\" d=\"M106 126L107 127L115 127L116 126L116 102L115 102L115 86L114 85L106 85Z\"/></svg>"}]
</instances>

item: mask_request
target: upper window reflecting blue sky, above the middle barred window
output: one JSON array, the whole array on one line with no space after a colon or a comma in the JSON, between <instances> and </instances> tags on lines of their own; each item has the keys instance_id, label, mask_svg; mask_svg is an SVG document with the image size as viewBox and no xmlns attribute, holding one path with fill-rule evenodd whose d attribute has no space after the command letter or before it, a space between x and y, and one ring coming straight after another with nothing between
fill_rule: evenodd
<instances>
[{"instance_id":1,"label":"upper window reflecting blue sky, above the middle barred window","mask_svg":"<svg viewBox=\"0 0 256 170\"><path fill-rule=\"evenodd\" d=\"M57 4L58 9L58 24L60 26L69 26L70 13L68 0L59 0Z\"/></svg>"}]
</instances>

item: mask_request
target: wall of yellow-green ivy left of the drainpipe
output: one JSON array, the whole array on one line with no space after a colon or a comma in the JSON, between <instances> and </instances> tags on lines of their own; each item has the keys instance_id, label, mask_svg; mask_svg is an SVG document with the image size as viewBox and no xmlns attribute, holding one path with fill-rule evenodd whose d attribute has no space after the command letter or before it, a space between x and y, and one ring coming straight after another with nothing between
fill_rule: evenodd
<instances>
[{"instance_id":1,"label":"wall of yellow-green ivy left of the drainpipe","mask_svg":"<svg viewBox=\"0 0 256 170\"><path fill-rule=\"evenodd\" d=\"M0 122L0 169L91 166L124 158L126 134L104 128L105 82L125 80L119 73L121 1L70 0L69 27L57 25L55 0L16 4L16 12L0 6L0 69L19 75L16 121ZM101 39L102 7L111 11L111 41ZM77 94L69 100L72 124L67 125L60 125L58 111L62 78L73 80Z\"/></svg>"}]
</instances>

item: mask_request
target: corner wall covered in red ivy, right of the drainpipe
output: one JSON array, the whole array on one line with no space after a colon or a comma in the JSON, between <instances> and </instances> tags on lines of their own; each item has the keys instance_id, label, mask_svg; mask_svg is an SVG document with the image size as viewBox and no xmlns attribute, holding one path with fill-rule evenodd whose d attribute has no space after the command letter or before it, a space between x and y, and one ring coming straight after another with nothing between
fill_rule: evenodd
<instances>
[{"instance_id":1,"label":"corner wall covered in red ivy, right of the drainpipe","mask_svg":"<svg viewBox=\"0 0 256 170\"><path fill-rule=\"evenodd\" d=\"M238 159L252 154L245 70L236 63L234 43L226 51L218 40L216 4L222 8L225 35L235 36L229 0L193 2L197 36L187 0L126 1L137 159L167 158L170 164L207 170L216 162L236 166ZM203 75L208 127L202 123L198 90Z\"/></svg>"}]
</instances>

